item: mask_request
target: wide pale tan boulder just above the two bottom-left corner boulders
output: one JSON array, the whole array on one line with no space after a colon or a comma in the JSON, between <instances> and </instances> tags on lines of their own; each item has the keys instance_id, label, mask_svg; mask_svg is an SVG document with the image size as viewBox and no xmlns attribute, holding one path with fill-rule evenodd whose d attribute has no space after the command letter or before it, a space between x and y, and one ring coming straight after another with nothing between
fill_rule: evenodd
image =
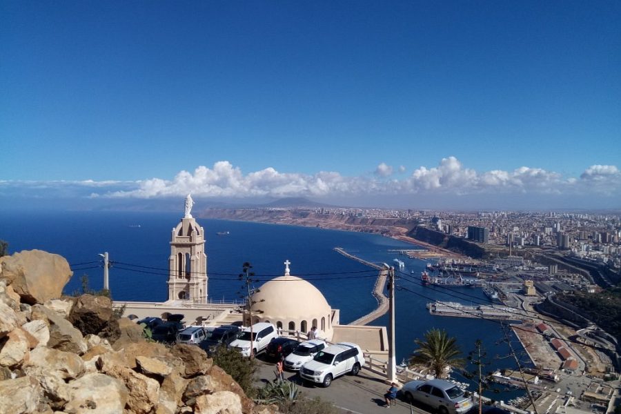
<instances>
[{"instance_id":1,"label":"wide pale tan boulder just above the two bottom-left corner boulders","mask_svg":"<svg viewBox=\"0 0 621 414\"><path fill-rule=\"evenodd\" d=\"M72 380L82 375L84 362L75 353L39 346L30 352L30 359L23 364L23 370L32 373L43 368L62 380Z\"/></svg>"}]
</instances>

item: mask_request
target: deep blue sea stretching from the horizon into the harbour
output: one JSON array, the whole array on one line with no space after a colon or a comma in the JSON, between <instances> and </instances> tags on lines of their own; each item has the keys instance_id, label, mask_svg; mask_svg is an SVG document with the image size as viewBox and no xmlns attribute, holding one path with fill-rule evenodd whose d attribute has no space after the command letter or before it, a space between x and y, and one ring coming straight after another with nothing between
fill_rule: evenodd
<instances>
[{"instance_id":1,"label":"deep blue sea stretching from the horizon into the harbour","mask_svg":"<svg viewBox=\"0 0 621 414\"><path fill-rule=\"evenodd\" d=\"M41 249L65 257L74 275L64 290L67 294L81 291L83 275L89 288L103 287L102 258L108 252L110 291L119 301L163 302L168 297L168 257L170 237L179 213L73 211L0 213L0 239L8 242L10 253ZM480 288L430 288L420 285L420 273L426 262L401 255L400 250L421 248L399 240L370 233L341 230L261 224L246 221L200 219L206 235L208 260L208 295L212 302L239 301L244 262L250 262L255 273L255 286L284 274L284 262L290 271L313 283L332 308L340 310L342 324L373 311L377 306L371 295L377 271L337 253L347 253L367 262L393 265L400 259L405 267L397 269L395 286L395 341L397 363L405 361L416 348L414 340L422 339L431 328L446 330L457 339L466 358L481 339L486 353L484 372L514 368L513 357L498 322L465 317L430 315L426 304L435 300L462 304L489 304ZM226 234L223 234L226 233ZM369 325L388 326L388 315ZM513 332L513 347L523 351ZM522 362L529 364L527 357ZM466 362L468 371L476 366ZM454 372L455 380L468 382ZM510 400L522 391L499 386L488 391L494 400ZM474 386L471 386L474 390Z\"/></svg>"}]
</instances>

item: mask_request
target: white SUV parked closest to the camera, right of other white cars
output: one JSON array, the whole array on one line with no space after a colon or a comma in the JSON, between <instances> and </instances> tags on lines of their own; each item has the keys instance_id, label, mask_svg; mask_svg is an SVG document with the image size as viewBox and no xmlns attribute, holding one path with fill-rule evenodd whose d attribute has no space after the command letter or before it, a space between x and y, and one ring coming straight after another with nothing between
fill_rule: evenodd
<instances>
[{"instance_id":1,"label":"white SUV parked closest to the camera, right of other white cars","mask_svg":"<svg viewBox=\"0 0 621 414\"><path fill-rule=\"evenodd\" d=\"M319 351L312 361L306 362L299 370L303 380L330 386L339 375L357 375L364 366L364 354L359 346L351 342L340 342Z\"/></svg>"}]
</instances>

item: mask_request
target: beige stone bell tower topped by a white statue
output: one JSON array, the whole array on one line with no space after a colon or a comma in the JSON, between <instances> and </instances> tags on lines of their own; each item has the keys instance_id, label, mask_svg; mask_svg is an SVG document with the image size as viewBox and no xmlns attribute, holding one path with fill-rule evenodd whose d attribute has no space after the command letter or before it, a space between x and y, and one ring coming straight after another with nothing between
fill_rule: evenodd
<instances>
[{"instance_id":1,"label":"beige stone bell tower topped by a white statue","mask_svg":"<svg viewBox=\"0 0 621 414\"><path fill-rule=\"evenodd\" d=\"M186 214L172 229L168 258L168 300L207 302L205 231L190 214L194 201L186 197Z\"/></svg>"}]
</instances>

